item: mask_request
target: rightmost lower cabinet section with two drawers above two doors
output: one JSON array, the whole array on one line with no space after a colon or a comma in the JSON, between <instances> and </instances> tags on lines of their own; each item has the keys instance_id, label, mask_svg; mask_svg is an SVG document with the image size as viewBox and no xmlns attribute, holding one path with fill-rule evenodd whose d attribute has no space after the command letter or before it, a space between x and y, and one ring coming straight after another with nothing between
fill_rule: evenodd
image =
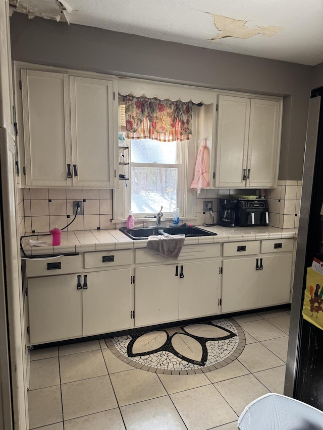
<instances>
[{"instance_id":1,"label":"rightmost lower cabinet section with two drawers above two doors","mask_svg":"<svg viewBox=\"0 0 323 430\"><path fill-rule=\"evenodd\" d=\"M249 242L252 257L236 256L248 242L225 243L222 275L222 313L264 308L290 301L294 239ZM232 246L234 245L234 246ZM259 250L261 251L259 252ZM239 254L242 252L239 252Z\"/></svg>"}]
</instances>

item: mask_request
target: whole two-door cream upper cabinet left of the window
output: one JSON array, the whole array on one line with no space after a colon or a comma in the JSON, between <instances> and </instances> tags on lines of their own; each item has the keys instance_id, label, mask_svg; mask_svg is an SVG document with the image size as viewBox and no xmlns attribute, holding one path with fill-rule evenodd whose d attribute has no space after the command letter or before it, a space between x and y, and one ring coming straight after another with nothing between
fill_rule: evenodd
<instances>
[{"instance_id":1,"label":"whole two-door cream upper cabinet left of the window","mask_svg":"<svg viewBox=\"0 0 323 430\"><path fill-rule=\"evenodd\" d=\"M112 80L22 69L23 185L118 187L115 93Z\"/></svg>"}]
</instances>

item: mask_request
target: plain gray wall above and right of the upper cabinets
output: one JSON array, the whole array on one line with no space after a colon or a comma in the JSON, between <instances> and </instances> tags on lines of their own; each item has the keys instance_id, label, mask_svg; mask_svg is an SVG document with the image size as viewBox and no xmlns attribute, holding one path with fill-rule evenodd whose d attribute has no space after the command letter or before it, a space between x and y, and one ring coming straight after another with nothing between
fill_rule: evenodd
<instances>
[{"instance_id":1,"label":"plain gray wall above and right of the upper cabinets","mask_svg":"<svg viewBox=\"0 0 323 430\"><path fill-rule=\"evenodd\" d=\"M313 68L15 13L14 60L284 96L279 179L301 179Z\"/></svg>"}]
</instances>

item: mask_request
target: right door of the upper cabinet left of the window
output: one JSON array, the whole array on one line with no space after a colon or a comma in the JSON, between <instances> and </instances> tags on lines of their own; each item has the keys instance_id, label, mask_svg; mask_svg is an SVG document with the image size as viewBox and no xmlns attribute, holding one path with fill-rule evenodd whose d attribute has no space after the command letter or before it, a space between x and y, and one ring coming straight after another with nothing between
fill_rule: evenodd
<instances>
[{"instance_id":1,"label":"right door of the upper cabinet left of the window","mask_svg":"<svg viewBox=\"0 0 323 430\"><path fill-rule=\"evenodd\" d=\"M73 185L112 188L113 82L70 76L70 89Z\"/></svg>"}]
</instances>

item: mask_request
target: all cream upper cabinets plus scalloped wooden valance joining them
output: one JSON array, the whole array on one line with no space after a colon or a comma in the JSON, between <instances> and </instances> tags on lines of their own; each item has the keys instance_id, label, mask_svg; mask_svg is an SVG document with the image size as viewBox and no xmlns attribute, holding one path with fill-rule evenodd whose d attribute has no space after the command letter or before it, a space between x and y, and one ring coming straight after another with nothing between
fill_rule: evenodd
<instances>
[{"instance_id":1,"label":"all cream upper cabinets plus scalloped wooden valance joining them","mask_svg":"<svg viewBox=\"0 0 323 430\"><path fill-rule=\"evenodd\" d=\"M277 186L280 97L16 62L21 186L119 188L128 162L119 163L118 92L199 104L194 139L208 151L210 188Z\"/></svg>"}]
</instances>

